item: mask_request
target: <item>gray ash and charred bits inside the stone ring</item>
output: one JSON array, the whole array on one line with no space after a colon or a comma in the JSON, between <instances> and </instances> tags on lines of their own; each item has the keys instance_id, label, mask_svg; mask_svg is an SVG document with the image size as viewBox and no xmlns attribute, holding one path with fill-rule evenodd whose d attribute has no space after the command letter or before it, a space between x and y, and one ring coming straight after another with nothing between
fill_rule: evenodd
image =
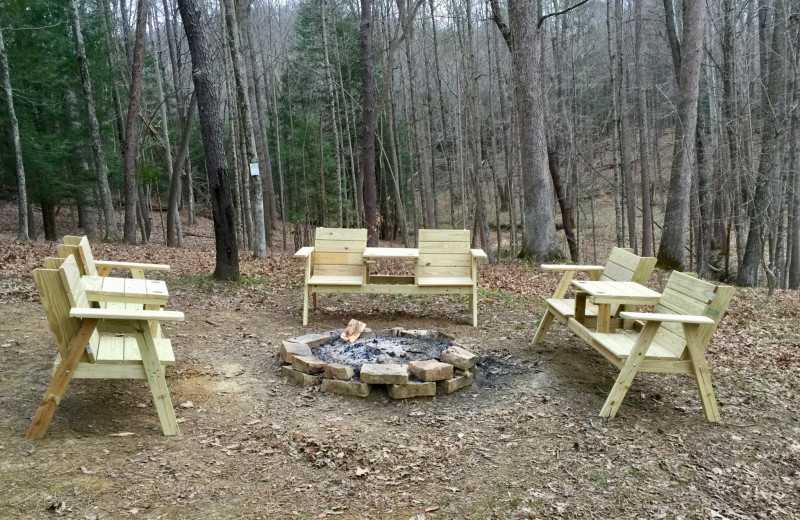
<instances>
[{"instance_id":1,"label":"gray ash and charred bits inside the stone ring","mask_svg":"<svg viewBox=\"0 0 800 520\"><path fill-rule=\"evenodd\" d=\"M439 359L450 342L430 338L377 336L349 343L338 337L314 348L314 355L326 363L351 365L356 376L364 363L404 365L409 361Z\"/></svg>"}]
</instances>

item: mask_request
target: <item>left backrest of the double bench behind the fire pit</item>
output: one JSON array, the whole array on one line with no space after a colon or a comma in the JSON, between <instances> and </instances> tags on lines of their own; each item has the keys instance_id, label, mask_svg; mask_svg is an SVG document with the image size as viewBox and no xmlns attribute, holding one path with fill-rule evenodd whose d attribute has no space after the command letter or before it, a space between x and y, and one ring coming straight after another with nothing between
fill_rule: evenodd
<instances>
[{"instance_id":1,"label":"left backrest of the double bench behind the fire pit","mask_svg":"<svg viewBox=\"0 0 800 520\"><path fill-rule=\"evenodd\" d=\"M317 228L311 274L363 276L366 248L366 229Z\"/></svg>"}]
</instances>

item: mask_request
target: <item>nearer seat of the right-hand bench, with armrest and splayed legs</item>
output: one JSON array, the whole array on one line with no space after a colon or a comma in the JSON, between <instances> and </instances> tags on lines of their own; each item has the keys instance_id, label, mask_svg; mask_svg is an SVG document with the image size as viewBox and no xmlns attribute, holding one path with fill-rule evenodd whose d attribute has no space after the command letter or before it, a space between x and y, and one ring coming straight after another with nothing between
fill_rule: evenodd
<instances>
[{"instance_id":1,"label":"nearer seat of the right-hand bench, with armrest and splayed legs","mask_svg":"<svg viewBox=\"0 0 800 520\"><path fill-rule=\"evenodd\" d=\"M673 271L652 313L621 313L644 324L638 333L601 334L569 318L567 327L620 369L600 415L616 415L638 372L667 372L693 374L706 418L719 422L705 351L734 292L733 287Z\"/></svg>"}]
</instances>

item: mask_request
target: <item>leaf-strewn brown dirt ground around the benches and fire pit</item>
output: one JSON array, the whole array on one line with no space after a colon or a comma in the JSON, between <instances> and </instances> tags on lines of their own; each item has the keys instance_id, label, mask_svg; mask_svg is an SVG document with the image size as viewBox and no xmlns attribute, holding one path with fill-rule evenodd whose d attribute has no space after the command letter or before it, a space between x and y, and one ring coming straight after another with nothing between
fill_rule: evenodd
<instances>
[{"instance_id":1,"label":"leaf-strewn brown dirt ground around the benches and fire pit","mask_svg":"<svg viewBox=\"0 0 800 520\"><path fill-rule=\"evenodd\" d=\"M56 245L16 243L0 213L0 518L800 517L797 292L765 305L738 291L708 350L721 424L692 378L664 374L637 376L604 420L616 370L560 325L531 345L557 274L482 265L477 329L466 299L365 295L322 296L303 327L300 261L243 253L242 281L214 282L201 220L182 250L92 244L96 258L172 265L182 436L161 434L142 381L76 380L28 441L56 350L30 273ZM281 376L282 339L350 318L451 334L483 356L478 380L397 402Z\"/></svg>"}]
</instances>

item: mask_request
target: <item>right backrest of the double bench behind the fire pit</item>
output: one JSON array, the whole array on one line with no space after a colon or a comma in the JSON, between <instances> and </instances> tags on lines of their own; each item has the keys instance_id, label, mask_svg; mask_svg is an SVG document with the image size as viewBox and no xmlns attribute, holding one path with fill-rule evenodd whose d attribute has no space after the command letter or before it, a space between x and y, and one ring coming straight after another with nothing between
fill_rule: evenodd
<instances>
[{"instance_id":1,"label":"right backrest of the double bench behind the fire pit","mask_svg":"<svg viewBox=\"0 0 800 520\"><path fill-rule=\"evenodd\" d=\"M420 229L417 276L472 278L471 231Z\"/></svg>"}]
</instances>

